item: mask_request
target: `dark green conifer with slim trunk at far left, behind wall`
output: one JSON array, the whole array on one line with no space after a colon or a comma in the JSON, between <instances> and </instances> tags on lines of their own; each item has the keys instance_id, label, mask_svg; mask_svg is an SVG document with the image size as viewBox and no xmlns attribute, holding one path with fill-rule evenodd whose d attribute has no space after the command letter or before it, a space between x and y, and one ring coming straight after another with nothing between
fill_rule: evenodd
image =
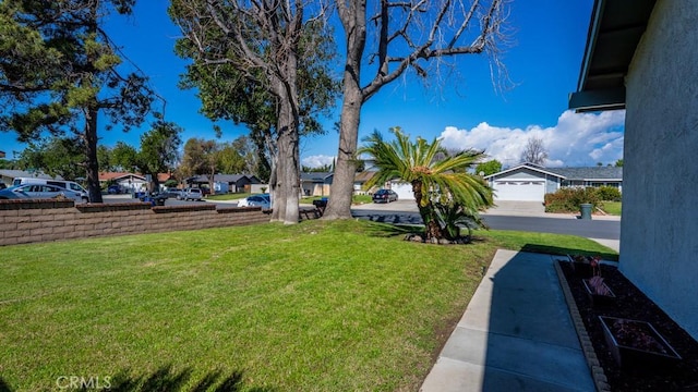
<instances>
[{"instance_id":1,"label":"dark green conifer with slim trunk at far left, behind wall","mask_svg":"<svg viewBox=\"0 0 698 392\"><path fill-rule=\"evenodd\" d=\"M131 14L135 0L0 2L0 128L22 142L69 134L84 148L89 199L101 201L98 119L139 126L154 94L139 72L118 71L122 56L103 28Z\"/></svg>"}]
</instances>

